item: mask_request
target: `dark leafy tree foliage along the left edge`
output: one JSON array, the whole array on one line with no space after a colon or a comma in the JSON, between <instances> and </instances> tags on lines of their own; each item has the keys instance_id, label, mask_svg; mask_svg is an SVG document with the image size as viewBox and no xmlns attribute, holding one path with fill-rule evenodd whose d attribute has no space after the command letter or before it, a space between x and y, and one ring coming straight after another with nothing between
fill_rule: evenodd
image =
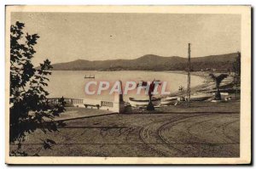
<instances>
[{"instance_id":1,"label":"dark leafy tree foliage along the left edge","mask_svg":"<svg viewBox=\"0 0 256 169\"><path fill-rule=\"evenodd\" d=\"M16 22L10 27L10 86L9 86L9 142L19 142L25 140L27 133L41 129L47 131L57 131L58 123L54 121L54 116L62 113L64 99L59 100L59 104L50 105L47 101L49 93L44 89L48 86L51 75L49 59L40 64L38 70L32 65L32 58L36 53L34 46L38 41L38 34L24 36L25 25ZM52 144L53 140L45 141ZM44 145L44 147L48 147ZM26 155L25 152L13 155Z\"/></svg>"}]
</instances>

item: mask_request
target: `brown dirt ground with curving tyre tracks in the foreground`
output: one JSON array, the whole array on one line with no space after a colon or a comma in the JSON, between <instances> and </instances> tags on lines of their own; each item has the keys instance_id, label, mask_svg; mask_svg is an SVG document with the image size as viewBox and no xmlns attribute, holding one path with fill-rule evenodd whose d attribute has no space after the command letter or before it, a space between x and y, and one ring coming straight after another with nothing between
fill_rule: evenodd
<instances>
[{"instance_id":1,"label":"brown dirt ground with curving tyre tracks in the foreground","mask_svg":"<svg viewBox=\"0 0 256 169\"><path fill-rule=\"evenodd\" d=\"M237 157L239 113L102 115L30 134L22 149L42 156ZM54 139L41 149L43 138ZM15 145L11 145L15 149Z\"/></svg>"}]
</instances>

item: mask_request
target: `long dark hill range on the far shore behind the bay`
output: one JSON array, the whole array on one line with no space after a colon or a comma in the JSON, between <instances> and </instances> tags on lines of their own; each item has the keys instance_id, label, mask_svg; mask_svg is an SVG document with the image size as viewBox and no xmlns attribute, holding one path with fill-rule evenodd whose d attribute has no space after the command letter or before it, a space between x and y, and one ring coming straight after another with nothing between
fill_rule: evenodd
<instances>
[{"instance_id":1,"label":"long dark hill range on the far shore behind the bay","mask_svg":"<svg viewBox=\"0 0 256 169\"><path fill-rule=\"evenodd\" d=\"M191 69L232 69L236 53L191 58ZM137 59L89 61L78 59L53 65L53 70L186 70L187 59L147 54Z\"/></svg>"}]
</instances>

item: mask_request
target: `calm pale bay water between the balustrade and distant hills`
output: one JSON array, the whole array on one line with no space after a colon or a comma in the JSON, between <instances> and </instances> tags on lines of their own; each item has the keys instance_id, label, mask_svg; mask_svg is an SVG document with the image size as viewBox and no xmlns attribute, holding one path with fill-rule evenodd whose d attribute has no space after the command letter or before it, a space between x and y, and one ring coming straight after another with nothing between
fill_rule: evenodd
<instances>
[{"instance_id":1,"label":"calm pale bay water between the balustrade and distant hills","mask_svg":"<svg viewBox=\"0 0 256 169\"><path fill-rule=\"evenodd\" d=\"M84 76L95 76L95 79L85 79ZM178 87L187 86L187 76L175 72L164 71L139 71L139 70L122 70L122 71L90 71L90 70L54 70L49 76L49 97L65 97L73 99L104 99L112 100L113 96L108 93L101 95L86 95L84 87L86 82L90 81L122 81L123 85L127 81L153 81L160 80L167 82L166 91L171 93L177 92ZM191 87L200 85L203 79L199 76L191 76ZM145 97L137 96L133 93L124 96L125 100L129 97Z\"/></svg>"}]
</instances>

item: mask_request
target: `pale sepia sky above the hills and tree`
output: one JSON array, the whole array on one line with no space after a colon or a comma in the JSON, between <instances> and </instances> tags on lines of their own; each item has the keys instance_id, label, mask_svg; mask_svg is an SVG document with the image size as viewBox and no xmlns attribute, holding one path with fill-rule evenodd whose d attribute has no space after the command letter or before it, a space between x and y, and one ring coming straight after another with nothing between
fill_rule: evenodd
<instances>
[{"instance_id":1,"label":"pale sepia sky above the hills and tree","mask_svg":"<svg viewBox=\"0 0 256 169\"><path fill-rule=\"evenodd\" d=\"M12 13L11 24L39 35L33 63L191 57L241 50L239 14Z\"/></svg>"}]
</instances>

